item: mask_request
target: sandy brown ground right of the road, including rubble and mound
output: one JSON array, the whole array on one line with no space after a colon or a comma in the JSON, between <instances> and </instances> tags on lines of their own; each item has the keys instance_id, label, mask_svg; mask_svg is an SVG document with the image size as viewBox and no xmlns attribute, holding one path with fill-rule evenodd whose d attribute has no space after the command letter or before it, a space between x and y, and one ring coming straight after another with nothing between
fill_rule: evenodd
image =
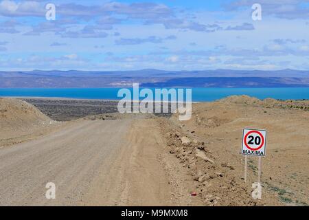
<instances>
[{"instance_id":1,"label":"sandy brown ground right of the road, including rubble and mound","mask_svg":"<svg viewBox=\"0 0 309 220\"><path fill-rule=\"evenodd\" d=\"M163 120L161 128L171 153L196 179L196 189L206 205L307 206L308 107L308 101L231 97L194 104L192 120L179 122L174 117ZM251 184L258 180L256 157L249 157L248 184L243 180L240 146L242 129L246 127L268 130L267 155L262 159L263 195L259 201L250 197Z\"/></svg>"}]
</instances>

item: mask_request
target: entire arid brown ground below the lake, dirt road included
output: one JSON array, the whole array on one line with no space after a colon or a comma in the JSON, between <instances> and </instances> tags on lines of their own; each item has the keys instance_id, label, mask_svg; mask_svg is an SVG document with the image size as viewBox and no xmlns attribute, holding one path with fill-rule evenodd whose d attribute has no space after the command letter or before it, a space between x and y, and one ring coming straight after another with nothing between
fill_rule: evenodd
<instances>
[{"instance_id":1,"label":"entire arid brown ground below the lake, dirt road included","mask_svg":"<svg viewBox=\"0 0 309 220\"><path fill-rule=\"evenodd\" d=\"M194 104L185 122L90 100L28 101L36 107L0 99L2 206L308 206L306 100L233 96ZM243 179L245 127L268 131L260 200L257 157ZM45 198L48 182L56 199Z\"/></svg>"}]
</instances>

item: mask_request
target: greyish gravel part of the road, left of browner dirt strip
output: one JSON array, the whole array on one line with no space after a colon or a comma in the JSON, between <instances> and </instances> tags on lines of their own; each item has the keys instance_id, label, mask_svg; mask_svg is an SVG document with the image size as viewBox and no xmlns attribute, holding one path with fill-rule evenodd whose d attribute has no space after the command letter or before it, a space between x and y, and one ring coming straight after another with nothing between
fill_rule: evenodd
<instances>
[{"instance_id":1,"label":"greyish gravel part of the road, left of browner dirt strip","mask_svg":"<svg viewBox=\"0 0 309 220\"><path fill-rule=\"evenodd\" d=\"M81 121L69 128L0 149L1 206L84 204L93 179L111 168L130 120ZM46 184L56 199L46 199ZM87 201L89 203L89 201Z\"/></svg>"}]
</instances>

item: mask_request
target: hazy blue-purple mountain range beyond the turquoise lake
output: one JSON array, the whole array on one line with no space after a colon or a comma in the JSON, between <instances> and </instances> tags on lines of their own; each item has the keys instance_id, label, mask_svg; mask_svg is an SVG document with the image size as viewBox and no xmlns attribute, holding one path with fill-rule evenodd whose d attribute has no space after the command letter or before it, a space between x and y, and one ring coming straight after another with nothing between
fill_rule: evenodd
<instances>
[{"instance_id":1,"label":"hazy blue-purple mountain range beyond the turquoise lake","mask_svg":"<svg viewBox=\"0 0 309 220\"><path fill-rule=\"evenodd\" d=\"M70 87L309 87L309 71L42 71L0 72L1 88Z\"/></svg>"}]
</instances>

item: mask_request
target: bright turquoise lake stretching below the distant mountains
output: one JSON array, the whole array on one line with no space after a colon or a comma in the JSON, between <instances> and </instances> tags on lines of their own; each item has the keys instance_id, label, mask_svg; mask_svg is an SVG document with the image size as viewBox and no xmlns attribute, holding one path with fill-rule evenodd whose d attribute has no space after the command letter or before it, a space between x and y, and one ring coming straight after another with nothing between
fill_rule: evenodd
<instances>
[{"instance_id":1,"label":"bright turquoise lake stretching below the distant mountains","mask_svg":"<svg viewBox=\"0 0 309 220\"><path fill-rule=\"evenodd\" d=\"M154 88L151 88L154 91ZM119 100L119 88L0 89L0 96ZM132 91L132 89L130 89ZM193 88L192 101L207 102L233 95L255 98L309 99L309 88Z\"/></svg>"}]
</instances>

